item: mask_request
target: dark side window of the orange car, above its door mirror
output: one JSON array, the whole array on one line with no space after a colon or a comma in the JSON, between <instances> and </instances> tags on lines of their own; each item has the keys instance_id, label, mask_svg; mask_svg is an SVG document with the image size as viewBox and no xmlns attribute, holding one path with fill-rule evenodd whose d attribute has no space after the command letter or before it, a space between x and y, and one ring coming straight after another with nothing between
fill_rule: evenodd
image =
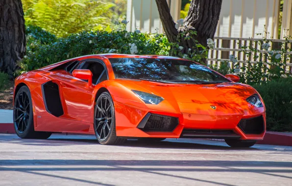
<instances>
[{"instance_id":1,"label":"dark side window of the orange car, above its door mirror","mask_svg":"<svg viewBox=\"0 0 292 186\"><path fill-rule=\"evenodd\" d=\"M92 83L97 84L97 80L99 77L103 74L105 71L102 64L96 62L96 61L85 61L82 62L76 69L88 69L92 72ZM105 73L106 76L106 73ZM106 77L107 78L107 77Z\"/></svg>"}]
</instances>

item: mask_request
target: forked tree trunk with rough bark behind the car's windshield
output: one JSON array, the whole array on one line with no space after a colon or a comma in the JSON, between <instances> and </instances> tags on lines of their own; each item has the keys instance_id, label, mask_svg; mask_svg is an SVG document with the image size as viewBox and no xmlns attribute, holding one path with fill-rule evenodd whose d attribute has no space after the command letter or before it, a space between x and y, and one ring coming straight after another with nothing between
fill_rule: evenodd
<instances>
[{"instance_id":1,"label":"forked tree trunk with rough bark behind the car's windshield","mask_svg":"<svg viewBox=\"0 0 292 186\"><path fill-rule=\"evenodd\" d=\"M176 43L177 35L180 32L196 31L197 35L189 35L197 40L201 45L207 47L207 39L214 38L219 20L222 0L192 0L188 16L184 20L184 25L178 31L170 15L170 9L166 0L156 0L160 19L163 24L166 36L171 43ZM180 45L184 46L184 51L192 48L190 40L185 41L184 37L180 40Z\"/></svg>"}]
</instances>

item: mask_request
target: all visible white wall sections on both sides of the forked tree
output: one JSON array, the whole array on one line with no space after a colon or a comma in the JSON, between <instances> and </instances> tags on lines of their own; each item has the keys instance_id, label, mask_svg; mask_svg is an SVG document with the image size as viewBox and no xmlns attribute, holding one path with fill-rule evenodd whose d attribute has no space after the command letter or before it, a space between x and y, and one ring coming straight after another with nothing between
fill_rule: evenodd
<instances>
[{"instance_id":1,"label":"all visible white wall sections on both sides of the forked tree","mask_svg":"<svg viewBox=\"0 0 292 186\"><path fill-rule=\"evenodd\" d=\"M174 21L179 19L181 0L167 0ZM284 26L290 28L292 0L284 0L290 6L283 10L286 21ZM278 36L279 0L223 0L220 12L217 37L262 38L265 31L268 38ZM285 13L285 12L286 13ZM140 29L142 32L163 33L155 0L128 0L128 31ZM266 25L266 29L265 26ZM263 35L257 35L262 33ZM282 34L284 35L284 34Z\"/></svg>"}]
</instances>

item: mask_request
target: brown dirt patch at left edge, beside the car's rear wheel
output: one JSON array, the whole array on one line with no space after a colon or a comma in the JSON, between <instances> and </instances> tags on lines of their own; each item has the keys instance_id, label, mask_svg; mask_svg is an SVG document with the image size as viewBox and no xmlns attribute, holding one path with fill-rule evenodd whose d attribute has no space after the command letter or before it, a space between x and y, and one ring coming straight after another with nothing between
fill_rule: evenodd
<instances>
[{"instance_id":1,"label":"brown dirt patch at left edge, beside the car's rear wheel","mask_svg":"<svg viewBox=\"0 0 292 186\"><path fill-rule=\"evenodd\" d=\"M13 82L9 84L9 87L4 91L0 91L0 109L12 110L13 102Z\"/></svg>"}]
</instances>

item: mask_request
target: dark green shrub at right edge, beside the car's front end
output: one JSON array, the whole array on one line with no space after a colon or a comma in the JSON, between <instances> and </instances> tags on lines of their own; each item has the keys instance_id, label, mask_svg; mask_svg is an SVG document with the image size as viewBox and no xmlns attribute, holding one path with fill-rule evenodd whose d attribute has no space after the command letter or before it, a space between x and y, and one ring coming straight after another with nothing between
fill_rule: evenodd
<instances>
[{"instance_id":1,"label":"dark green shrub at right edge, beside the car's front end","mask_svg":"<svg viewBox=\"0 0 292 186\"><path fill-rule=\"evenodd\" d=\"M267 130L292 131L292 78L281 78L253 87L261 94L267 108Z\"/></svg>"}]
</instances>

